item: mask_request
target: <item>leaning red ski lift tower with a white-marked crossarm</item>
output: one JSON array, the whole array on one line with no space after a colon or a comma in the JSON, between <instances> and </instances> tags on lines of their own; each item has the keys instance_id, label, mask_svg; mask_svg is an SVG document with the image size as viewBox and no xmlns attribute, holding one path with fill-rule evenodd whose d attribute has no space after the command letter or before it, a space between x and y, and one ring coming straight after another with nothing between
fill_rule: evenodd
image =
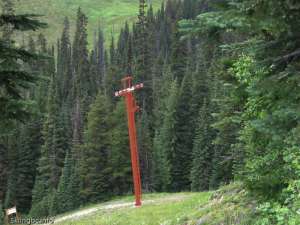
<instances>
[{"instance_id":1,"label":"leaning red ski lift tower with a white-marked crossarm","mask_svg":"<svg viewBox=\"0 0 300 225\"><path fill-rule=\"evenodd\" d=\"M142 187L141 187L140 163L139 163L139 155L138 155L137 139L136 139L136 127L135 127L135 113L139 110L139 107L136 105L133 92L135 90L143 88L144 84L141 83L137 85L132 85L132 77L127 76L122 79L122 85L123 85L123 90L117 91L115 93L115 96L116 97L124 96L126 101L135 205L141 206Z\"/></svg>"}]
</instances>

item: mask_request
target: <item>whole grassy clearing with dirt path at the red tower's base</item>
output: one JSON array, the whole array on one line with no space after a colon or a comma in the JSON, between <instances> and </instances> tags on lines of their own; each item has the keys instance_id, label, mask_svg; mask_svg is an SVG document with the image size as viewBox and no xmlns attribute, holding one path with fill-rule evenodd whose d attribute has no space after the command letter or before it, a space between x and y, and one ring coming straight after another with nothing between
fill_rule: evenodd
<instances>
[{"instance_id":1,"label":"whole grassy clearing with dirt path at the red tower's base","mask_svg":"<svg viewBox=\"0 0 300 225\"><path fill-rule=\"evenodd\" d=\"M240 184L215 192L145 194L143 206L132 196L56 217L57 225L252 224L256 202Z\"/></svg>"}]
</instances>

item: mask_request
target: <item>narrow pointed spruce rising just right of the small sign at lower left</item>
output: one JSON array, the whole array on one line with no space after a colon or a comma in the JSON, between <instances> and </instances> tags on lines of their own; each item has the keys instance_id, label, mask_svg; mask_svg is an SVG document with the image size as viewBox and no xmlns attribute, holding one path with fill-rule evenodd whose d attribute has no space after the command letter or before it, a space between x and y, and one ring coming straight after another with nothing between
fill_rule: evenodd
<instances>
[{"instance_id":1,"label":"narrow pointed spruce rising just right of the small sign at lower left","mask_svg":"<svg viewBox=\"0 0 300 225\"><path fill-rule=\"evenodd\" d=\"M50 212L49 201L51 201L53 191L57 188L63 161L68 149L67 133L62 122L58 88L56 76L53 74L51 85L49 86L47 118L44 123L43 139L44 144L41 148L41 157L38 165L38 175L32 196L32 212L48 215ZM44 204L41 206L41 204ZM39 212L40 208L44 211ZM34 214L35 214L34 213Z\"/></svg>"}]
</instances>

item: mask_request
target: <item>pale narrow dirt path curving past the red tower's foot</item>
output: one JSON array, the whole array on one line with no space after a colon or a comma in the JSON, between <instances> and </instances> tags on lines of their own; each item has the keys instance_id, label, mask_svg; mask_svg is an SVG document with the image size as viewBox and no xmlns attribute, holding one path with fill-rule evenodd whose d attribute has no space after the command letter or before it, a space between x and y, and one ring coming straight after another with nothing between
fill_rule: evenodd
<instances>
[{"instance_id":1,"label":"pale narrow dirt path curving past the red tower's foot","mask_svg":"<svg viewBox=\"0 0 300 225\"><path fill-rule=\"evenodd\" d=\"M166 201L168 201L168 202L181 201L187 197L188 197L188 195L182 194L182 195L177 195L177 196L162 197L161 199L158 198L155 200L144 200L143 205L156 204L156 203L166 202ZM107 211L107 210L120 209L120 208L125 208L125 207L134 208L135 205L132 202L114 202L114 203L110 203L110 204L103 204L101 206L96 206L96 207L89 208L89 209L83 209L81 211L74 212L74 213L71 213L66 216L57 217L57 218L55 218L54 224L61 223L61 222L67 221L67 220L70 220L70 221L78 220L81 217L85 217L87 215L91 215L91 214L94 214L99 211Z\"/></svg>"}]
</instances>

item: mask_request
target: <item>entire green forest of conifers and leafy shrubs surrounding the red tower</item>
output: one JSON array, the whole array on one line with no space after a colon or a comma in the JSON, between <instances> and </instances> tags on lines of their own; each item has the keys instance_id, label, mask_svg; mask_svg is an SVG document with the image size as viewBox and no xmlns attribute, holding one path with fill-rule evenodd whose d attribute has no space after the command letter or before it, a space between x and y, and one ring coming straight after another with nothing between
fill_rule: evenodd
<instances>
[{"instance_id":1,"label":"entire green forest of conifers and leafy shrubs surrounding the red tower","mask_svg":"<svg viewBox=\"0 0 300 225\"><path fill-rule=\"evenodd\" d=\"M222 224L300 224L300 2L136 0L114 32L88 30L85 2L52 41L1 0L0 225L133 194L127 75L143 193L238 182L254 220Z\"/></svg>"}]
</instances>

